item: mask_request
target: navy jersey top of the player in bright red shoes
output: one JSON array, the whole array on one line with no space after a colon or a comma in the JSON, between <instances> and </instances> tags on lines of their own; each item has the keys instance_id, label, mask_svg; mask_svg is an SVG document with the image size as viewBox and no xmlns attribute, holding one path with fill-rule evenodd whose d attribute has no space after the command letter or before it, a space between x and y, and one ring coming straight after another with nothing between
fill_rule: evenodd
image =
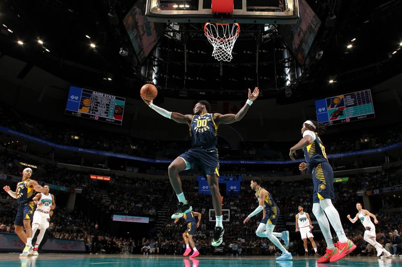
<instances>
[{"instance_id":1,"label":"navy jersey top of the player in bright red shoes","mask_svg":"<svg viewBox=\"0 0 402 267\"><path fill-rule=\"evenodd\" d=\"M309 135L315 135L316 138L307 147L303 148L303 152L305 153L305 158L306 158L306 164L307 167L309 168L310 171L313 171L315 167L317 167L318 164L322 162L328 162L327 160L327 154L325 153L325 147L323 143L321 142L320 137L317 135L317 133L314 133L312 131L305 131L303 133L303 136L306 136L306 132L309 132Z\"/></svg>"}]
</instances>

